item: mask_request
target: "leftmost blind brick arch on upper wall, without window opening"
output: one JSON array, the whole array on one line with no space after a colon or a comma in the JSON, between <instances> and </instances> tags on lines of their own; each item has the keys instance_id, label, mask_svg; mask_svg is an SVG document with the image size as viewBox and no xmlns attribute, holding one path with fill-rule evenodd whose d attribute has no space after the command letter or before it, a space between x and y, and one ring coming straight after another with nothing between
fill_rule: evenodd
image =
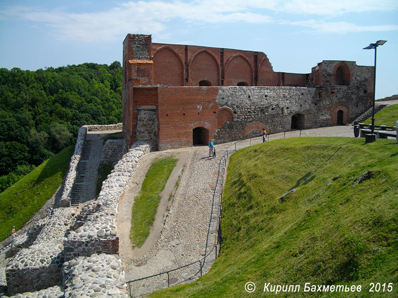
<instances>
[{"instance_id":1,"label":"leftmost blind brick arch on upper wall, without window opening","mask_svg":"<svg viewBox=\"0 0 398 298\"><path fill-rule=\"evenodd\" d=\"M153 55L153 62L154 84L184 86L184 63L174 49L160 47Z\"/></svg>"}]
</instances>

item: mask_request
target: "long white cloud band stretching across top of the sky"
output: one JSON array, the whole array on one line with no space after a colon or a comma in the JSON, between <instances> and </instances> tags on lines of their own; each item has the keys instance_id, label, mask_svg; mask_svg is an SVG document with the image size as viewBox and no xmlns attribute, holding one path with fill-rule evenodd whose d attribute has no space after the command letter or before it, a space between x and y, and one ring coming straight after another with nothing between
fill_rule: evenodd
<instances>
[{"instance_id":1,"label":"long white cloud band stretching across top of the sky","mask_svg":"<svg viewBox=\"0 0 398 298\"><path fill-rule=\"evenodd\" d=\"M397 0L173 0L129 1L109 10L70 13L60 9L9 7L0 18L19 18L46 23L59 39L68 41L120 40L127 32L164 35L170 21L203 23L282 23L311 27L321 32L361 32L397 30L397 25L358 26L347 22L305 20L276 21L275 12L292 14L339 15L349 12L396 10ZM267 13L267 14L266 14Z\"/></svg>"}]
</instances>

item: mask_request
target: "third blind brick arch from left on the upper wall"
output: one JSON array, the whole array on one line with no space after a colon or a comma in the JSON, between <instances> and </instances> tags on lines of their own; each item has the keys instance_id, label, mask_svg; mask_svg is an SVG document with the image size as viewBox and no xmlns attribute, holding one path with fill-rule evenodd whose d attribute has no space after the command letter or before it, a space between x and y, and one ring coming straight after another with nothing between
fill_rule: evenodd
<instances>
[{"instance_id":1,"label":"third blind brick arch from left on the upper wall","mask_svg":"<svg viewBox=\"0 0 398 298\"><path fill-rule=\"evenodd\" d=\"M225 64L225 85L236 86L242 81L253 85L253 66L245 56L235 54Z\"/></svg>"}]
</instances>

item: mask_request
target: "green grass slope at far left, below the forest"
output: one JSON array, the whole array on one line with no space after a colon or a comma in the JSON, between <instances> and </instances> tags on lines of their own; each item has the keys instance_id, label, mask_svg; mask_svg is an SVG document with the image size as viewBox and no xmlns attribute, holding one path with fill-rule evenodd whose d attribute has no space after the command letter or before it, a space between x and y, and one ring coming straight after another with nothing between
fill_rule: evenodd
<instances>
[{"instance_id":1,"label":"green grass slope at far left, below the forest","mask_svg":"<svg viewBox=\"0 0 398 298\"><path fill-rule=\"evenodd\" d=\"M52 156L0 194L0 240L26 224L62 183L74 147Z\"/></svg>"}]
</instances>

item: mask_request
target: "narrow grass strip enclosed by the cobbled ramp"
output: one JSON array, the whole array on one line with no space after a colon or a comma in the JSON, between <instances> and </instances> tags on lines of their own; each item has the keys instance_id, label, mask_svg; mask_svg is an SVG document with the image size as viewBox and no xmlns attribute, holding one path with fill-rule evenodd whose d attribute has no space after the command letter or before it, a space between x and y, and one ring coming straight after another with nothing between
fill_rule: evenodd
<instances>
[{"instance_id":1,"label":"narrow grass strip enclosed by the cobbled ramp","mask_svg":"<svg viewBox=\"0 0 398 298\"><path fill-rule=\"evenodd\" d=\"M160 193L177 161L173 156L156 159L148 169L131 209L130 239L133 247L141 247L148 238L161 199Z\"/></svg>"}]
</instances>

